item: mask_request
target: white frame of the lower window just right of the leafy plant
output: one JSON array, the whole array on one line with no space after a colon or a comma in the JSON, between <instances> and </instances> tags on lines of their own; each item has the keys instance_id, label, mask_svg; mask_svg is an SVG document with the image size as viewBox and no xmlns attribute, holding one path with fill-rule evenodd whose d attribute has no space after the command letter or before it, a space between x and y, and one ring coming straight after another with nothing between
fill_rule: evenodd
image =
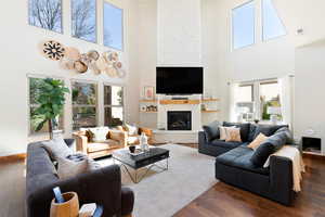
<instances>
[{"instance_id":1,"label":"white frame of the lower window just right of the leafy plant","mask_svg":"<svg viewBox=\"0 0 325 217\"><path fill-rule=\"evenodd\" d=\"M89 84L89 85L95 85L95 99L96 102L94 105L87 105L87 104L74 104L74 99L73 99L73 91L74 91L74 82L83 82L83 84ZM94 107L95 108L95 122L96 126L99 126L100 118L99 118L99 82L94 80L87 80L87 79L70 79L70 86L72 86L72 93L70 93L70 100L72 100L72 128L73 131L78 131L80 128L74 128L74 108L75 107ZM86 127L87 128L87 127Z\"/></svg>"}]
</instances>

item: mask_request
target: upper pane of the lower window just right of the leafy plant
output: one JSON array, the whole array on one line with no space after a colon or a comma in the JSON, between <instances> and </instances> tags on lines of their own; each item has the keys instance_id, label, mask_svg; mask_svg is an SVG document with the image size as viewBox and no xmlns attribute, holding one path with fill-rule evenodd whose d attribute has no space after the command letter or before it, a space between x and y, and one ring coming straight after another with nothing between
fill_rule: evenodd
<instances>
[{"instance_id":1,"label":"upper pane of the lower window just right of the leafy plant","mask_svg":"<svg viewBox=\"0 0 325 217\"><path fill-rule=\"evenodd\" d=\"M96 85L73 82L73 103L81 105L96 104Z\"/></svg>"}]
</instances>

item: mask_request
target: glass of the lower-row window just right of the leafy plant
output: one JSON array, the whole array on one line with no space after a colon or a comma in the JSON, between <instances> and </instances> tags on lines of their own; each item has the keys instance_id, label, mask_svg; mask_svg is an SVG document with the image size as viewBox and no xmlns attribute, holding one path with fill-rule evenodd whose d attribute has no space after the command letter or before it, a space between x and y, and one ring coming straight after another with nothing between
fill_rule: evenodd
<instances>
[{"instance_id":1,"label":"glass of the lower-row window just right of the leafy plant","mask_svg":"<svg viewBox=\"0 0 325 217\"><path fill-rule=\"evenodd\" d=\"M73 128L95 127L96 118L96 85L73 81Z\"/></svg>"}]
</instances>

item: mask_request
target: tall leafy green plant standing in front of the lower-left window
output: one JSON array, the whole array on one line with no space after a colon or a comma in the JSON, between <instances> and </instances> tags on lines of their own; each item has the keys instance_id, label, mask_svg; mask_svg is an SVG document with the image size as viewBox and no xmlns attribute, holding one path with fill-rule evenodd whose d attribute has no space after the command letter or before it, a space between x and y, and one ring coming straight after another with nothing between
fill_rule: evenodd
<instances>
[{"instance_id":1,"label":"tall leafy green plant standing in front of the lower-left window","mask_svg":"<svg viewBox=\"0 0 325 217\"><path fill-rule=\"evenodd\" d=\"M63 80L47 78L39 84L35 97L38 106L31 114L35 131L40 131L48 123L50 138L53 138L53 130L57 129L58 116L65 104L65 93L69 93L69 89Z\"/></svg>"}]
</instances>

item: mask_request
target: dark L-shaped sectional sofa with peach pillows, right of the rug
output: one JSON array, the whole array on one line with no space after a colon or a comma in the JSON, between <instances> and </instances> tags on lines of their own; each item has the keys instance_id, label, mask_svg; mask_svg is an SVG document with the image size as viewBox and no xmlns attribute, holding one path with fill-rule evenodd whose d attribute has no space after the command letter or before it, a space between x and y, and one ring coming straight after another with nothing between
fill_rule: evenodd
<instances>
[{"instance_id":1,"label":"dark L-shaped sectional sofa with peach pillows, right of the rug","mask_svg":"<svg viewBox=\"0 0 325 217\"><path fill-rule=\"evenodd\" d=\"M210 125L213 130L219 124L212 123ZM230 124L223 123L221 125L236 125L242 132L247 132L247 125L249 125L249 132L246 138L242 137L243 142L224 142L214 138L211 140L211 135L218 135L217 131L210 133L206 127L205 131L199 132L199 152L216 157L216 178L238 187L240 189L253 192L261 196L276 201L284 205L290 205L295 192L292 191L292 163L289 158L271 156L270 166L264 168L263 162L270 155L284 144L292 143L291 135L287 126L270 126L270 125L252 125L245 124ZM268 153L262 149L253 151L247 148L257 135L263 132L269 136L264 146L270 148ZM210 140L209 140L210 139ZM258 152L258 153L257 153ZM262 161L261 165L256 164L256 161Z\"/></svg>"}]
</instances>

